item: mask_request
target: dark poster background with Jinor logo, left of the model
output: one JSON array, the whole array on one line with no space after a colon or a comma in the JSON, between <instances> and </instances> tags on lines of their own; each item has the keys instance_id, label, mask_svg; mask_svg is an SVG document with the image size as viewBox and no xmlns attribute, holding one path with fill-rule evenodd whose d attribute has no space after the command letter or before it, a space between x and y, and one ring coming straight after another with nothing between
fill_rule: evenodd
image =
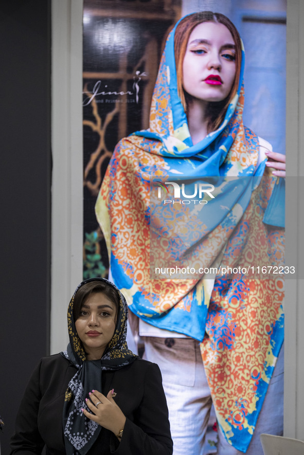
<instances>
[{"instance_id":1,"label":"dark poster background with Jinor logo, left of the model","mask_svg":"<svg viewBox=\"0 0 304 455\"><path fill-rule=\"evenodd\" d=\"M157 4L157 5L156 5ZM148 128L158 65L181 2L84 2L84 278L108 273L94 206L117 142Z\"/></svg>"}]
</instances>

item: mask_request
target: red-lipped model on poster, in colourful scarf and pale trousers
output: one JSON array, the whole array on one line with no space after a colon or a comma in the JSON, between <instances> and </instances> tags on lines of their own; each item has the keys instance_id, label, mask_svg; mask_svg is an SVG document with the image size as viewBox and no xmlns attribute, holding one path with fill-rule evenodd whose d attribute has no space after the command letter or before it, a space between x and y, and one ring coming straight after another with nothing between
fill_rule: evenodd
<instances>
[{"instance_id":1,"label":"red-lipped model on poster, in colourful scarf and pale trousers","mask_svg":"<svg viewBox=\"0 0 304 455\"><path fill-rule=\"evenodd\" d=\"M243 125L243 70L242 42L226 16L200 12L177 23L150 128L117 144L96 204L113 280L139 318L145 357L162 371L174 455L202 455L212 402L220 454L262 454L259 433L282 431L281 361L273 371L283 343L283 281L228 272L153 280L149 269L150 254L159 267L174 254L180 267L234 267L252 257L255 265L282 263L284 201L275 176L284 175L284 157ZM238 179L226 179L207 205L150 205L151 177L164 187L202 176Z\"/></svg>"}]
</instances>

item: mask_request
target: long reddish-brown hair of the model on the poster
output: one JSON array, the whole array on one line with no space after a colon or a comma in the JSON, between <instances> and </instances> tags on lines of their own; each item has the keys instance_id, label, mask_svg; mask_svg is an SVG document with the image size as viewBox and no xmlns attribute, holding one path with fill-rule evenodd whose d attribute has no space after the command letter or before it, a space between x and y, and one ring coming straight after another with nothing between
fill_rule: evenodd
<instances>
[{"instance_id":1,"label":"long reddish-brown hair of the model on the poster","mask_svg":"<svg viewBox=\"0 0 304 455\"><path fill-rule=\"evenodd\" d=\"M214 22L216 24L223 24L231 33L236 45L236 77L231 87L230 93L223 101L210 102L208 106L207 115L209 122L207 125L208 133L215 131L219 128L224 120L227 107L230 101L237 93L239 86L241 59L242 59L242 44L238 30L234 24L221 13L213 13L212 11L202 11L199 13L190 14L184 17L177 25L174 35L174 53L175 65L177 75L177 93L181 98L185 112L187 113L187 99L190 100L191 96L188 95L183 88L183 62L189 41L189 37L193 29L202 22Z\"/></svg>"}]
</instances>

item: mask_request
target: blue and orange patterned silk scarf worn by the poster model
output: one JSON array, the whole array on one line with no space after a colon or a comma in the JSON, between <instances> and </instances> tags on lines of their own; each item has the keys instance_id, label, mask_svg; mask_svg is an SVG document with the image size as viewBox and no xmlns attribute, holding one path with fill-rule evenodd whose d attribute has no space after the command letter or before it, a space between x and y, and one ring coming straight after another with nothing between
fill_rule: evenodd
<instances>
[{"instance_id":1,"label":"blue and orange patterned silk scarf worn by the poster model","mask_svg":"<svg viewBox=\"0 0 304 455\"><path fill-rule=\"evenodd\" d=\"M117 144L96 215L114 282L131 311L201 342L219 425L229 444L246 451L283 341L283 279L234 271L215 279L151 279L149 266L150 259L162 266L177 258L181 266L218 261L222 267L242 264L256 271L266 259L278 267L284 252L282 184L275 185L265 157L259 158L258 137L243 125L243 50L238 93L222 125L192 144L177 95L174 31L160 62L150 128ZM164 188L176 176L220 177L223 185L207 205L155 211L153 180ZM150 245L150 227L156 248Z\"/></svg>"}]
</instances>

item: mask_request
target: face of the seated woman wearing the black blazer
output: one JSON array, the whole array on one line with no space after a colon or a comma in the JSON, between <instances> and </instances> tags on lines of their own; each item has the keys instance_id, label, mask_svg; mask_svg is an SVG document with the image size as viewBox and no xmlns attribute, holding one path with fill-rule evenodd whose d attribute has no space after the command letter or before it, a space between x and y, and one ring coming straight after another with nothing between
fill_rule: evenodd
<instances>
[{"instance_id":1,"label":"face of the seated woman wearing the black blazer","mask_svg":"<svg viewBox=\"0 0 304 455\"><path fill-rule=\"evenodd\" d=\"M87 360L100 359L111 341L116 326L116 306L104 294L91 294L75 321Z\"/></svg>"}]
</instances>

